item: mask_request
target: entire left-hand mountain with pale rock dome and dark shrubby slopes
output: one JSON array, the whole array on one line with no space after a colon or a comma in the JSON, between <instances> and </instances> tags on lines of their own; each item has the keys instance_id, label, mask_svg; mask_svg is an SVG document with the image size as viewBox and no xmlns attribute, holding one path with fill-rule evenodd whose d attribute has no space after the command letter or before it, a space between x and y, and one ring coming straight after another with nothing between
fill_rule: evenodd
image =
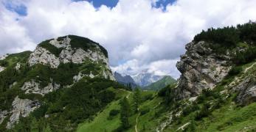
<instances>
[{"instance_id":1,"label":"entire left-hand mountain with pale rock dome and dark shrubby slopes","mask_svg":"<svg viewBox=\"0 0 256 132\"><path fill-rule=\"evenodd\" d=\"M1 131L74 131L125 89L111 81L107 56L98 43L69 35L1 57Z\"/></svg>"}]
</instances>

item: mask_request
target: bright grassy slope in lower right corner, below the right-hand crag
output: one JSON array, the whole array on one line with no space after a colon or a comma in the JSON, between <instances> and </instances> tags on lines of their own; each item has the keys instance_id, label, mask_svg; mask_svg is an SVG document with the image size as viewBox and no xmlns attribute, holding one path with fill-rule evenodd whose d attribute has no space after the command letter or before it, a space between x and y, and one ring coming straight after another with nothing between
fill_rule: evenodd
<instances>
[{"instance_id":1,"label":"bright grassy slope in lower right corner, below the right-hand crag","mask_svg":"<svg viewBox=\"0 0 256 132\"><path fill-rule=\"evenodd\" d=\"M243 80L246 76L256 76L255 62L239 67L242 71L238 75L228 76L215 89L200 95L199 100L185 107L181 117L174 120L165 131L181 131L179 128L187 123L190 125L184 127L185 131L256 131L256 103L248 106L238 105L235 103L235 92L218 95L226 89L226 84L230 84L235 78ZM205 104L210 104L207 114L196 120L198 112L202 111Z\"/></svg>"}]
</instances>

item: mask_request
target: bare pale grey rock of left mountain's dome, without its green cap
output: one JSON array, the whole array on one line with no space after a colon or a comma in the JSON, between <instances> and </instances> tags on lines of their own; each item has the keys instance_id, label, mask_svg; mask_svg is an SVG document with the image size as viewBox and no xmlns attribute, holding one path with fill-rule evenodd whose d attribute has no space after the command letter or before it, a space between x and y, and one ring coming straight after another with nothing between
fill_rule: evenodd
<instances>
[{"instance_id":1,"label":"bare pale grey rock of left mountain's dome, without its green cap","mask_svg":"<svg viewBox=\"0 0 256 132\"><path fill-rule=\"evenodd\" d=\"M111 69L108 66L108 57L103 54L103 51L99 45L94 44L93 51L92 49L87 49L87 51L84 51L82 48L72 48L71 39L69 36L66 36L62 40L49 40L49 44L54 45L56 48L61 50L59 56L55 56L55 54L47 51L46 48L42 48L40 45L38 45L35 51L30 54L30 58L28 59L30 66L39 63L49 65L52 68L58 68L60 63L65 64L72 62L75 64L81 64L85 61L95 63L103 62L106 70L103 70L102 76L104 78L115 80L113 74L111 73Z\"/></svg>"}]
</instances>

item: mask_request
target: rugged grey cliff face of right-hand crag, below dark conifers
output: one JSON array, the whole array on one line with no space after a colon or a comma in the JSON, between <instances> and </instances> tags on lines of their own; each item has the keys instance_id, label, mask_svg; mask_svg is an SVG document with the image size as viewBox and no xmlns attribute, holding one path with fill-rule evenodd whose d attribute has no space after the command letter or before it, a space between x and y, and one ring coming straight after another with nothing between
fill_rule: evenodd
<instances>
[{"instance_id":1,"label":"rugged grey cliff face of right-hand crag, below dark conifers","mask_svg":"<svg viewBox=\"0 0 256 132\"><path fill-rule=\"evenodd\" d=\"M202 89L212 89L232 67L229 53L216 54L204 41L188 43L187 52L181 55L176 67L181 72L177 98L197 96Z\"/></svg>"}]
</instances>

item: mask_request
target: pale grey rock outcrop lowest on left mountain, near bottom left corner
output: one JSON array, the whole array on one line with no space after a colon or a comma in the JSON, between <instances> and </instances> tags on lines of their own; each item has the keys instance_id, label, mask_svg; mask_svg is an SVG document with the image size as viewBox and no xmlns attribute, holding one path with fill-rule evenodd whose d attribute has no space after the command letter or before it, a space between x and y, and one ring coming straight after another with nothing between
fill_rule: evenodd
<instances>
[{"instance_id":1,"label":"pale grey rock outcrop lowest on left mountain, near bottom left corner","mask_svg":"<svg viewBox=\"0 0 256 132\"><path fill-rule=\"evenodd\" d=\"M27 117L30 112L40 106L38 100L21 99L18 96L13 101L13 110L10 111L10 120L7 122L7 128L12 128L15 122L18 122L19 117Z\"/></svg>"}]
</instances>

